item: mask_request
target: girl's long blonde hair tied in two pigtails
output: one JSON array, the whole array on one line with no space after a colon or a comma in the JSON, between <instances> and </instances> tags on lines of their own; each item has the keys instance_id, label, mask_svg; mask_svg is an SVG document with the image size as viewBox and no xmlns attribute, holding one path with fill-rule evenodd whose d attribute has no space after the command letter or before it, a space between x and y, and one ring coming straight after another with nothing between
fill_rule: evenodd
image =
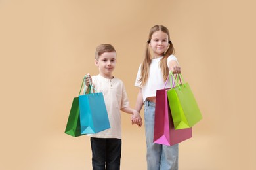
<instances>
[{"instance_id":1,"label":"girl's long blonde hair tied in two pigtails","mask_svg":"<svg viewBox=\"0 0 256 170\"><path fill-rule=\"evenodd\" d=\"M144 60L142 62L142 65L141 65L141 76L140 76L140 79L139 79L139 82L140 82L141 86L146 84L146 81L148 80L149 68L150 68L150 63L151 63L151 59L152 59L152 56L150 54L149 44L150 44L153 33L156 32L156 31L163 31L163 33L166 33L168 35L169 48L166 50L165 54L163 55L163 58L160 60L160 68L161 68L161 72L163 73L163 80L164 81L166 81L167 77L169 76L169 69L168 69L168 66L167 66L167 58L171 54L174 54L173 44L170 41L169 30L167 29L167 27L165 27L163 25L154 25L154 27L152 27L150 29L150 33L149 33L149 36L148 36L148 41L147 41L147 44L146 44L145 58L144 58Z\"/></svg>"}]
</instances>

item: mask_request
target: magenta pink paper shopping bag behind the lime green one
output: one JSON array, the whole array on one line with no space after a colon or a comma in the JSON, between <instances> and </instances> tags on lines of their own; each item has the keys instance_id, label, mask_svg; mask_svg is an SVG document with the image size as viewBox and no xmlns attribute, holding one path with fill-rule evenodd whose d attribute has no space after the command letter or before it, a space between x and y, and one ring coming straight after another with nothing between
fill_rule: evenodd
<instances>
[{"instance_id":1,"label":"magenta pink paper shopping bag behind the lime green one","mask_svg":"<svg viewBox=\"0 0 256 170\"><path fill-rule=\"evenodd\" d=\"M175 130L167 99L168 90L156 91L154 143L173 146L191 138L192 128Z\"/></svg>"}]
</instances>

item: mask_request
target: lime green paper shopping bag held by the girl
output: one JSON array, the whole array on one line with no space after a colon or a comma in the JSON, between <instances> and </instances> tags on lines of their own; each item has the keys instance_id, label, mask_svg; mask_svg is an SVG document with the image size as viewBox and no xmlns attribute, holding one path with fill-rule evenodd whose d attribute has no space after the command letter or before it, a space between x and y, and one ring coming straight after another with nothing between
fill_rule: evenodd
<instances>
[{"instance_id":1,"label":"lime green paper shopping bag held by the girl","mask_svg":"<svg viewBox=\"0 0 256 170\"><path fill-rule=\"evenodd\" d=\"M172 76L170 80L173 81L173 73L170 73L170 76ZM181 74L177 76L177 79L174 78L176 86L167 92L175 129L190 128L202 119L202 114L190 86L188 83L178 83L178 79L181 82L181 78ZM183 78L182 81L184 82Z\"/></svg>"}]
</instances>

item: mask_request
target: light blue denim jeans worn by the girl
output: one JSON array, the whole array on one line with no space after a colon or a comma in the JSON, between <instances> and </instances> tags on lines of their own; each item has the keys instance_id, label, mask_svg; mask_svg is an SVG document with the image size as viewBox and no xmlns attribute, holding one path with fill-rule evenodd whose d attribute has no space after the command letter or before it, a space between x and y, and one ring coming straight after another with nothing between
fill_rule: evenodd
<instances>
[{"instance_id":1,"label":"light blue denim jeans worn by the girl","mask_svg":"<svg viewBox=\"0 0 256 170\"><path fill-rule=\"evenodd\" d=\"M146 132L146 160L148 170L177 170L179 145L165 146L156 144L154 139L155 103L144 102L144 118Z\"/></svg>"}]
</instances>

